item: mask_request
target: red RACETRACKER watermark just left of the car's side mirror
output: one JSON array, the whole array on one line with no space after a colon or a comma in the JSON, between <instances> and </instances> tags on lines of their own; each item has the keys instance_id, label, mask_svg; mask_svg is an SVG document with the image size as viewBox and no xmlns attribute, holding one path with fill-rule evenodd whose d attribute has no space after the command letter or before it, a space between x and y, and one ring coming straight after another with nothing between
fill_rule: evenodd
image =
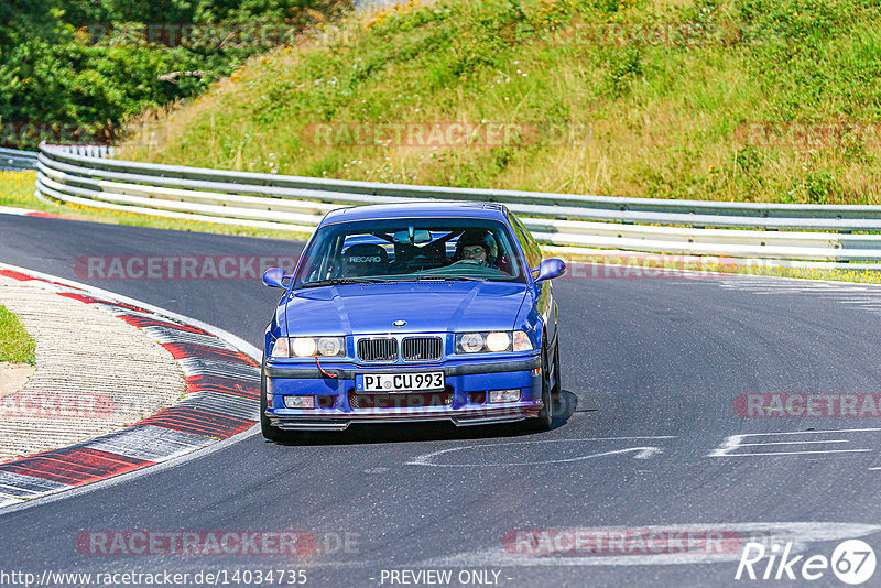
<instances>
[{"instance_id":1,"label":"red RACETRACKER watermark just left of the car's side mirror","mask_svg":"<svg viewBox=\"0 0 881 588\"><path fill-rule=\"evenodd\" d=\"M292 272L293 255L81 255L80 280L255 280L268 268Z\"/></svg>"}]
</instances>

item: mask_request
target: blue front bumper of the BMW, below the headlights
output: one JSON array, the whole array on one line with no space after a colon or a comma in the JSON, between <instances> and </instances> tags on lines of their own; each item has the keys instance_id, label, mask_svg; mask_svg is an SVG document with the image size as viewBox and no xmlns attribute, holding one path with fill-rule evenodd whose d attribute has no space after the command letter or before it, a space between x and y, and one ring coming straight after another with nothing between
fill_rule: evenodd
<instances>
[{"instance_id":1,"label":"blue front bumper of the BMW, below the headlights","mask_svg":"<svg viewBox=\"0 0 881 588\"><path fill-rule=\"evenodd\" d=\"M267 364L267 389L272 403L265 415L281 429L344 431L352 423L448 421L457 426L511 423L537 416L542 409L541 359L450 360L443 363L360 366L323 362L315 364L271 361ZM440 405L409 405L406 393L366 394L355 390L357 374L443 371L446 389L424 392L443 395ZM519 402L489 403L490 390L520 390ZM482 400L481 400L482 393ZM315 409L286 409L285 395L314 395ZM358 398L372 396L371 407L358 407ZM383 402L379 402L379 401ZM356 404L356 406L352 406Z\"/></svg>"}]
</instances>

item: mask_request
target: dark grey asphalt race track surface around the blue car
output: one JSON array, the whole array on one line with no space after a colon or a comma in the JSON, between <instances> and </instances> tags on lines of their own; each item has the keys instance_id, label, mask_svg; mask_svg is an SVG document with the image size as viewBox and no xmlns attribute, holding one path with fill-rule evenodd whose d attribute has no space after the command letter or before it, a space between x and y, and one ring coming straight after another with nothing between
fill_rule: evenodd
<instances>
[{"instance_id":1,"label":"dark grey asphalt race track surface around the blue car","mask_svg":"<svg viewBox=\"0 0 881 588\"><path fill-rule=\"evenodd\" d=\"M75 260L295 255L301 247L0 215L0 261L135 297L258 347L278 293L257 279L84 280ZM374 427L305 445L258 434L178 467L0 514L0 570L231 578L236 569L305 569L307 586L414 578L391 570L453 570L450 586L463 585L463 570L467 586L845 586L830 569L815 581L738 581L731 549L682 553L674 543L664 553L607 545L524 555L509 540L523 536L518 530L559 537L657 527L770 537L805 556L829 557L850 538L881 548L881 420L736 412L747 393L877 392L881 288L729 276L561 279L555 291L565 392L552 432ZM112 341L107 353L111 361ZM317 543L305 559L77 549L90 531L211 530L303 531ZM881 571L870 585L881 585Z\"/></svg>"}]
</instances>

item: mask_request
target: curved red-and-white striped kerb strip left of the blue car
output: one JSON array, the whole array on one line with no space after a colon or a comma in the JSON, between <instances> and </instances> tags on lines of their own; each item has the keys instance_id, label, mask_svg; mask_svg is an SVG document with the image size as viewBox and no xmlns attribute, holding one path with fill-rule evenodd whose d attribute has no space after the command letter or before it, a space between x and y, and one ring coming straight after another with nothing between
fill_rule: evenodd
<instances>
[{"instance_id":1,"label":"curved red-and-white striped kerb strip left of the blue car","mask_svg":"<svg viewBox=\"0 0 881 588\"><path fill-rule=\"evenodd\" d=\"M6 263L0 263L0 275L32 282L134 325L168 350L187 385L177 403L131 426L0 464L0 512L157 464L178 465L195 451L255 434L261 359L255 347L199 320L78 282Z\"/></svg>"}]
</instances>

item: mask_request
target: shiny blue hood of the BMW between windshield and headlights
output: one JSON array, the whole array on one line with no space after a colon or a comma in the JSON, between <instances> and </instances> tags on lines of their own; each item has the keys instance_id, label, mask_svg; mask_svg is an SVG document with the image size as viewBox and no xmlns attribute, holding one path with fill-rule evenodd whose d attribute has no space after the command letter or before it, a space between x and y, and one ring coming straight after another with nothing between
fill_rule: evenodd
<instances>
[{"instance_id":1,"label":"shiny blue hood of the BMW between windshield and headlights","mask_svg":"<svg viewBox=\"0 0 881 588\"><path fill-rule=\"evenodd\" d=\"M526 284L511 282L325 286L293 292L285 319L292 336L509 330L525 294Z\"/></svg>"}]
</instances>

